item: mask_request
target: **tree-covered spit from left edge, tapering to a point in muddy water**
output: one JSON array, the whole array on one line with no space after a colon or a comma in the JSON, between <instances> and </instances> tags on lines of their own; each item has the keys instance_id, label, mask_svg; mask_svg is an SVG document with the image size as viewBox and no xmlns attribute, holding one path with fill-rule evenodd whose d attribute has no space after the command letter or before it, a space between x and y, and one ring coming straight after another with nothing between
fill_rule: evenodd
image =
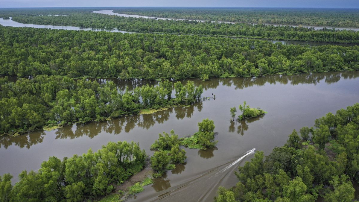
<instances>
[{"instance_id":1,"label":"tree-covered spit from left edge, tapering to a point in muddy water","mask_svg":"<svg viewBox=\"0 0 359 202\"><path fill-rule=\"evenodd\" d=\"M172 98L172 89L175 97ZM99 121L137 114L143 109L161 109L193 104L202 86L192 81L159 82L158 86L137 86L120 92L115 83L99 84L87 79L38 75L9 82L0 78L0 133L13 134L47 126Z\"/></svg>"}]
</instances>

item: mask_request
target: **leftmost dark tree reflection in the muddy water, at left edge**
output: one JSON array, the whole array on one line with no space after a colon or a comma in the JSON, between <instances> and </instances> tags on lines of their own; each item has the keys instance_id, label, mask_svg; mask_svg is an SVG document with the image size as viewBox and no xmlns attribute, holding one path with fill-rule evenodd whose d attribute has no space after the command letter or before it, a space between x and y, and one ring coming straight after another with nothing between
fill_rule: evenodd
<instances>
[{"instance_id":1,"label":"leftmost dark tree reflection in the muddy water, at left edge","mask_svg":"<svg viewBox=\"0 0 359 202\"><path fill-rule=\"evenodd\" d=\"M7 149L13 143L15 146L20 148L30 148L31 146L41 143L45 137L45 131L38 130L36 132L29 133L27 135L20 135L20 136L2 136L0 137L0 147L1 145Z\"/></svg>"}]
</instances>

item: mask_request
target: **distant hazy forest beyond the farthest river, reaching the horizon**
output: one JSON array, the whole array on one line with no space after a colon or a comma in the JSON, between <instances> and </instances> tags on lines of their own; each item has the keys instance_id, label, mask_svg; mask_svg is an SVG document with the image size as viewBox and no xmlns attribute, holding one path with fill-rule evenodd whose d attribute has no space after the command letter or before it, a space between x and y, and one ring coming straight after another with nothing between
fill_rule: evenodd
<instances>
[{"instance_id":1,"label":"distant hazy forest beyond the farthest river, reaching the horizon","mask_svg":"<svg viewBox=\"0 0 359 202\"><path fill-rule=\"evenodd\" d=\"M114 12L188 20L359 27L358 9L136 7L119 8Z\"/></svg>"}]
</instances>

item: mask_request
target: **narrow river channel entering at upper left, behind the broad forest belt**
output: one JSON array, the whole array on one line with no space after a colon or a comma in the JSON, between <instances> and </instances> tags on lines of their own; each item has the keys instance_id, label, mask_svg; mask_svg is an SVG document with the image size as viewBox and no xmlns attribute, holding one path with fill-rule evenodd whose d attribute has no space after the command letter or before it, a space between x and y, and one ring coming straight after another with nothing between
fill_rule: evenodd
<instances>
[{"instance_id":1,"label":"narrow river channel entering at upper left, behind the broad forest belt","mask_svg":"<svg viewBox=\"0 0 359 202\"><path fill-rule=\"evenodd\" d=\"M108 11L108 10L107 10ZM109 10L112 11L112 10ZM65 29L65 30L84 30L84 31L107 31L107 32L120 32L120 33L139 33L139 32L129 32L123 31L120 29L96 29L96 28L84 28L76 26L57 26L57 25L41 25L41 24L24 24L19 23L11 19L0 18L0 25L8 27L33 27L33 28L48 28L48 29ZM181 35L178 33L173 33L174 35ZM187 34L189 35L189 34ZM220 36L215 36L220 37ZM224 36L225 37L225 36ZM246 37L229 37L229 38L246 38ZM251 38L246 38L251 39ZM331 43L331 42L312 42L312 41L291 41L291 40L272 40L272 39L256 39L262 41L270 41L272 43L283 43L285 45L309 45L309 46L322 46L322 45L338 45L338 46L357 46L357 43Z\"/></svg>"}]
</instances>

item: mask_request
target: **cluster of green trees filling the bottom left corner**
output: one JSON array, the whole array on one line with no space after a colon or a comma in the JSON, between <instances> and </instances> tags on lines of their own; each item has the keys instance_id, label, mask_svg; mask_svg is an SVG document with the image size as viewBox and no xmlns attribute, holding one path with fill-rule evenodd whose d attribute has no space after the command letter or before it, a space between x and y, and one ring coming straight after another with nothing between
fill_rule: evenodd
<instances>
[{"instance_id":1,"label":"cluster of green trees filling the bottom left corner","mask_svg":"<svg viewBox=\"0 0 359 202\"><path fill-rule=\"evenodd\" d=\"M0 199L15 201L86 201L111 193L113 183L123 183L143 169L146 159L134 142L109 142L93 153L90 149L82 156L74 155L60 160L50 157L38 172L23 171L20 181L11 185L12 176L0 179ZM146 179L141 186L150 183ZM134 189L135 190L135 189ZM113 201L118 195L106 197Z\"/></svg>"}]
</instances>

